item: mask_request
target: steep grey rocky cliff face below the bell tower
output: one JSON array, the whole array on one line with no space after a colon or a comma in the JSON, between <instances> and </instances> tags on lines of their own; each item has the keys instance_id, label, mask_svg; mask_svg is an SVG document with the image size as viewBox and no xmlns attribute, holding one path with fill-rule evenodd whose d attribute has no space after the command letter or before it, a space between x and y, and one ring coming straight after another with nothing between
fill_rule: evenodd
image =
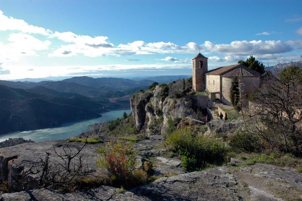
<instances>
[{"instance_id":1,"label":"steep grey rocky cliff face below the bell tower","mask_svg":"<svg viewBox=\"0 0 302 201\"><path fill-rule=\"evenodd\" d=\"M204 121L208 106L207 96L184 95L170 97L164 93L164 87L157 85L152 92L137 93L130 99L131 113L137 129L148 135L160 132L166 134L168 120L193 118Z\"/></svg>"}]
</instances>

